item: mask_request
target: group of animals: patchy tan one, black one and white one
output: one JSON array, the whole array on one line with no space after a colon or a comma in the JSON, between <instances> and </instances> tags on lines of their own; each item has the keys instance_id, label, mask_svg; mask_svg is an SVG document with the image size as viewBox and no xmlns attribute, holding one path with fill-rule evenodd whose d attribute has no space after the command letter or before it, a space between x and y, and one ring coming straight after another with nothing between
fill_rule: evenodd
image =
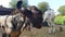
<instances>
[{"instance_id":1,"label":"group of animals: patchy tan one, black one and white one","mask_svg":"<svg viewBox=\"0 0 65 37\"><path fill-rule=\"evenodd\" d=\"M44 21L50 26L49 34L55 33L54 17L52 9L48 9L44 14L35 5L15 9L9 15L0 15L2 37L18 37L24 29L30 30L30 26L41 28Z\"/></svg>"}]
</instances>

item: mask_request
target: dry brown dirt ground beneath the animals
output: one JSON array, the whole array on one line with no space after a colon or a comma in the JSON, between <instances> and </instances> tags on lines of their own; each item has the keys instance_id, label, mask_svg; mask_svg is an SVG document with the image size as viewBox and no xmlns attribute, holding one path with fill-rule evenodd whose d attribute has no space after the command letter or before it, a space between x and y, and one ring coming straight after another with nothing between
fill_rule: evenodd
<instances>
[{"instance_id":1,"label":"dry brown dirt ground beneath the animals","mask_svg":"<svg viewBox=\"0 0 65 37\"><path fill-rule=\"evenodd\" d=\"M56 27L55 34L48 34L49 27L42 27L40 29L38 28L31 28L30 32L24 30L20 37L65 37L65 27L63 27L63 32L60 32ZM0 29L0 37L1 37L1 29Z\"/></svg>"}]
</instances>

